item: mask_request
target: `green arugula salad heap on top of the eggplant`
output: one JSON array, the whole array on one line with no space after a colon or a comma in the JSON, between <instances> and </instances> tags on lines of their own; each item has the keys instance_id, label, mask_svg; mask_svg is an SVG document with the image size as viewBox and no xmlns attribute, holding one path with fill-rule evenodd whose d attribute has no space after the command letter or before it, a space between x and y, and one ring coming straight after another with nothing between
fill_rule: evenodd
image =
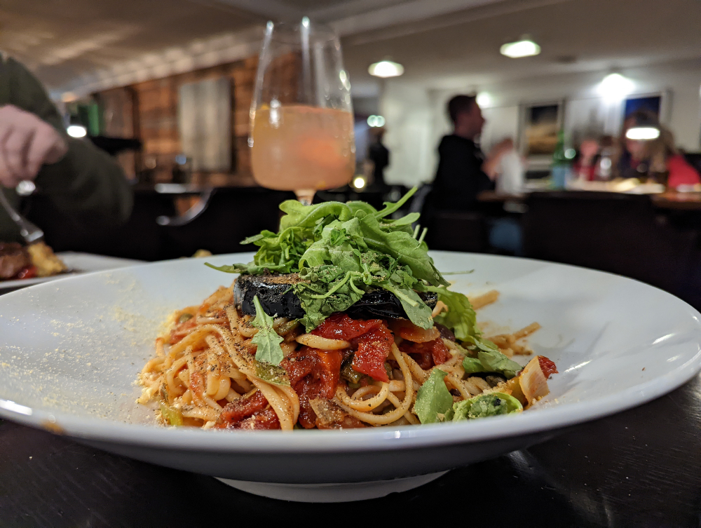
<instances>
[{"instance_id":1,"label":"green arugula salad heap on top of the eggplant","mask_svg":"<svg viewBox=\"0 0 701 528\"><path fill-rule=\"evenodd\" d=\"M400 299L412 323L433 326L431 310L418 292L437 292L449 311L436 318L461 340L479 341L475 312L467 297L447 290L449 283L428 256L428 246L411 228L418 213L391 216L411 198L411 189L396 203L376 210L365 202L280 204L286 214L277 233L263 231L242 243L259 247L253 262L212 266L229 273L299 273L304 282L292 286L299 297L307 331L332 313L345 311L368 290L383 288ZM425 230L424 230L425 232Z\"/></svg>"}]
</instances>

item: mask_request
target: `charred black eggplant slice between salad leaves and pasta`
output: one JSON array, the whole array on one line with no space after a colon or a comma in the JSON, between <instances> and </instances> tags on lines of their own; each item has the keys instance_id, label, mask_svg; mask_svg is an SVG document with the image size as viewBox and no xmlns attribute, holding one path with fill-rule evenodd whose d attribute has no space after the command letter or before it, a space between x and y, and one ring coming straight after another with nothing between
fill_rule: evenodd
<instances>
[{"instance_id":1,"label":"charred black eggplant slice between salad leaves and pasta","mask_svg":"<svg viewBox=\"0 0 701 528\"><path fill-rule=\"evenodd\" d=\"M299 280L297 273L241 275L233 287L233 302L240 313L254 316L253 297L257 295L269 316L299 319L304 317L304 310L297 295L292 292L292 286ZM434 292L419 292L418 295L431 309L438 301L438 295ZM382 289L365 293L346 313L356 319L407 318L400 300Z\"/></svg>"}]
</instances>

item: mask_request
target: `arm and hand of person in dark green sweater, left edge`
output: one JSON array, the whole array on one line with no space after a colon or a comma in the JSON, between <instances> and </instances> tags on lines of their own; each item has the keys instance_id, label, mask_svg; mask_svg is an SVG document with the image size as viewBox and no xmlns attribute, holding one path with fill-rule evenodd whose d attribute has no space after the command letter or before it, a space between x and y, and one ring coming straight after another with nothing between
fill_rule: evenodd
<instances>
[{"instance_id":1,"label":"arm and hand of person in dark green sweater, left edge","mask_svg":"<svg viewBox=\"0 0 701 528\"><path fill-rule=\"evenodd\" d=\"M19 204L15 187L32 180L79 222L119 224L132 210L132 191L116 161L88 141L69 137L41 83L0 55L0 192ZM0 208L0 242L22 242Z\"/></svg>"}]
</instances>

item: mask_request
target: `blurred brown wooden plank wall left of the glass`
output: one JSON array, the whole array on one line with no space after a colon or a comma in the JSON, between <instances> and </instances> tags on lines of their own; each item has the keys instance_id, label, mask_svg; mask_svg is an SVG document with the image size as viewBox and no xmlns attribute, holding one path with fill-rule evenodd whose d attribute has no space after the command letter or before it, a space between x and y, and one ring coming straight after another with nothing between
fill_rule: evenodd
<instances>
[{"instance_id":1,"label":"blurred brown wooden plank wall left of the glass","mask_svg":"<svg viewBox=\"0 0 701 528\"><path fill-rule=\"evenodd\" d=\"M137 137L143 142L140 155L121 155L125 172L134 177L144 168L151 168L155 161L156 181L170 181L175 156L181 153L177 127L179 86L226 76L232 83L232 170L227 174L200 173L194 175L194 179L215 185L253 184L247 140L256 68L257 57L250 57L94 94L103 110L105 135Z\"/></svg>"}]
</instances>

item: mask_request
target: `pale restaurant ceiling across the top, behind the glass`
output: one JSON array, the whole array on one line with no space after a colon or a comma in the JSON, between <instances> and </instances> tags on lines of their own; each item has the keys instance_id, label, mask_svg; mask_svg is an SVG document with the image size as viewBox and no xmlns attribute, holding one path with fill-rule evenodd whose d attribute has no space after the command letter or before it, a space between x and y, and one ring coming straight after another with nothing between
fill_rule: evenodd
<instances>
[{"instance_id":1,"label":"pale restaurant ceiling across the top, behind the glass","mask_svg":"<svg viewBox=\"0 0 701 528\"><path fill-rule=\"evenodd\" d=\"M265 20L302 15L339 31L358 94L385 57L428 88L701 57L699 0L3 0L0 49L84 92L252 55ZM522 34L543 53L499 55Z\"/></svg>"}]
</instances>

